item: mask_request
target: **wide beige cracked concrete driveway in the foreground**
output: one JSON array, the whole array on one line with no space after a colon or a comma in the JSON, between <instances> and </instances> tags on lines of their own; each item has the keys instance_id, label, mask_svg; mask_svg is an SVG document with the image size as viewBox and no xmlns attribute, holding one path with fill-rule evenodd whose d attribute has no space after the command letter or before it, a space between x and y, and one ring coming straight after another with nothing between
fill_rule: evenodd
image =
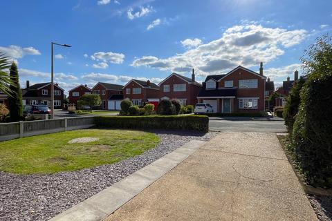
<instances>
[{"instance_id":1,"label":"wide beige cracked concrete driveway in the foreground","mask_svg":"<svg viewBox=\"0 0 332 221\"><path fill-rule=\"evenodd\" d=\"M276 135L237 132L201 146L111 220L317 218Z\"/></svg>"}]
</instances>

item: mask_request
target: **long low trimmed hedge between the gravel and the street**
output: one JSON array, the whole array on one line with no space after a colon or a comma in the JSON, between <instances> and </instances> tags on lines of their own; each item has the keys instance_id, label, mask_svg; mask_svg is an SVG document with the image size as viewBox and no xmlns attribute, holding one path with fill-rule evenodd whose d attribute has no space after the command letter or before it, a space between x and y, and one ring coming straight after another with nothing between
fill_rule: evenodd
<instances>
[{"instance_id":1,"label":"long low trimmed hedge between the gravel and the street","mask_svg":"<svg viewBox=\"0 0 332 221\"><path fill-rule=\"evenodd\" d=\"M95 124L108 128L209 131L209 118L202 115L98 116Z\"/></svg>"}]
</instances>

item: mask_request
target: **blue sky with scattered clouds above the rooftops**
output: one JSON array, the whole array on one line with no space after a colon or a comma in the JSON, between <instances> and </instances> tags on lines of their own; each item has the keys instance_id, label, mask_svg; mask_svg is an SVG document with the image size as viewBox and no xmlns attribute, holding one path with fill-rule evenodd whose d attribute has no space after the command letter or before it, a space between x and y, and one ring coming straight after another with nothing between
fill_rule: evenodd
<instances>
[{"instance_id":1,"label":"blue sky with scattered clouds above the rooftops","mask_svg":"<svg viewBox=\"0 0 332 221\"><path fill-rule=\"evenodd\" d=\"M98 81L158 83L171 73L196 80L241 65L279 86L304 50L332 30L330 0L0 1L0 52L16 61L21 87L55 81L66 91ZM6 21L7 20L7 21Z\"/></svg>"}]
</instances>

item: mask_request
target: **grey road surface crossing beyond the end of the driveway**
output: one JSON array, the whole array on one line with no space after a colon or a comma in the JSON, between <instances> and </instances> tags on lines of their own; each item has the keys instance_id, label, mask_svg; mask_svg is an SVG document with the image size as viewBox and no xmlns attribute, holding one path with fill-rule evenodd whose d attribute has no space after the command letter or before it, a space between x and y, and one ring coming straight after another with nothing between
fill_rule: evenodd
<instances>
[{"instance_id":1,"label":"grey road surface crossing beyond the end of the driveway","mask_svg":"<svg viewBox=\"0 0 332 221\"><path fill-rule=\"evenodd\" d=\"M221 132L286 133L286 126L280 118L271 120L259 118L252 120L250 117L209 117L209 126L210 129Z\"/></svg>"}]
</instances>

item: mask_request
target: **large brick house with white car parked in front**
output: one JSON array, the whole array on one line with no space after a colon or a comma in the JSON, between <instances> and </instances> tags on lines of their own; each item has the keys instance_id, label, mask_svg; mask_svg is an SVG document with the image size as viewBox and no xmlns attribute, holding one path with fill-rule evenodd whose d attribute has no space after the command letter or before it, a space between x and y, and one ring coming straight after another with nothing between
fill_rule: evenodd
<instances>
[{"instance_id":1,"label":"large brick house with white car parked in front","mask_svg":"<svg viewBox=\"0 0 332 221\"><path fill-rule=\"evenodd\" d=\"M225 75L209 75L198 95L218 113L259 113L264 111L266 77L263 64L259 73L238 66Z\"/></svg>"}]
</instances>

